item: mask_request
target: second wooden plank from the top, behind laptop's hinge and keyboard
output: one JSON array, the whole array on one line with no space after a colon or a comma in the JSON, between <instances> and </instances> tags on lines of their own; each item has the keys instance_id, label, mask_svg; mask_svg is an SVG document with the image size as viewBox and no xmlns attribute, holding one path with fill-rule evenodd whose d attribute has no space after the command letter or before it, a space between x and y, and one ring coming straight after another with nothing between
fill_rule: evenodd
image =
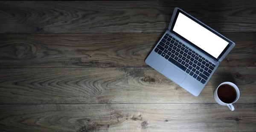
<instances>
[{"instance_id":1,"label":"second wooden plank from the top, behind laptop's hinge and keyboard","mask_svg":"<svg viewBox=\"0 0 256 132\"><path fill-rule=\"evenodd\" d=\"M256 66L256 32L223 33L236 43L220 66ZM0 67L148 67L162 33L0 34Z\"/></svg>"}]
</instances>

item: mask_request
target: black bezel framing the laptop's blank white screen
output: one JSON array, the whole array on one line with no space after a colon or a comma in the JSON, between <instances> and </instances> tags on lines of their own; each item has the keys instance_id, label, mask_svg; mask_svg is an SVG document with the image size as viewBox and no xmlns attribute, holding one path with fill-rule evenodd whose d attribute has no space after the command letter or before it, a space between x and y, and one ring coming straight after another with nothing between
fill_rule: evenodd
<instances>
[{"instance_id":1,"label":"black bezel framing the laptop's blank white screen","mask_svg":"<svg viewBox=\"0 0 256 132\"><path fill-rule=\"evenodd\" d=\"M196 23L198 23L199 25L203 26L204 28L206 28L207 30L209 30L210 32L216 34L218 37L221 37L222 39L224 39L225 41L228 42L228 45L226 46L226 48L221 52L221 54L218 56L218 58L213 57L212 55L210 55L209 53L205 52L203 49L199 48L198 46L196 46L194 43L190 42L189 40L187 40L186 38L182 37L180 34L178 34L177 32L173 31L173 28L175 26L178 14L182 13L183 15L185 15L186 17L189 17L191 20L195 21ZM224 36L222 36L221 34L219 34L218 32L214 31L213 29L209 28L208 26L206 26L204 23L201 23L199 20L195 19L194 17L190 16L189 14L186 14L185 12L181 11L180 9L177 9L177 12L175 14L175 18L172 22L172 26L170 31L175 34L176 36L182 38L183 40L185 40L186 42L188 42L189 44L191 44L192 46L195 46L195 48L199 49L200 51L204 52L205 54L209 55L212 59L214 60L220 60L220 58L224 55L224 53L227 51L227 49L232 45L232 42L230 40L228 40L227 38L225 38Z\"/></svg>"}]
</instances>

